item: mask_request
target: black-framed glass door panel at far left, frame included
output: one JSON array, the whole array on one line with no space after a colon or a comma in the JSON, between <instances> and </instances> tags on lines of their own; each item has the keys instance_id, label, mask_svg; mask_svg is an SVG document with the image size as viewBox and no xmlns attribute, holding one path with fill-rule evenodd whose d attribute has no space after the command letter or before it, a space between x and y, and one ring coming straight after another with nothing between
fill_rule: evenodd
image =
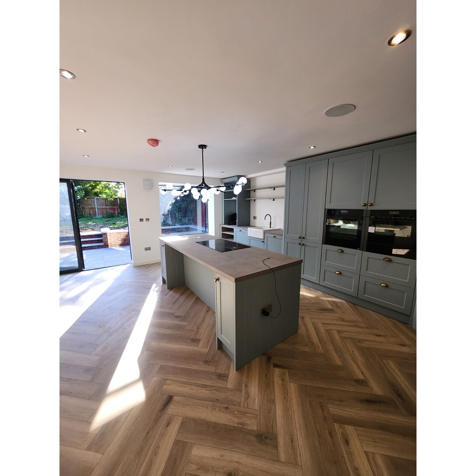
<instances>
[{"instance_id":1,"label":"black-framed glass door panel at far left, frame included","mask_svg":"<svg viewBox=\"0 0 476 476\"><path fill-rule=\"evenodd\" d=\"M72 181L60 179L60 274L84 269Z\"/></svg>"}]
</instances>

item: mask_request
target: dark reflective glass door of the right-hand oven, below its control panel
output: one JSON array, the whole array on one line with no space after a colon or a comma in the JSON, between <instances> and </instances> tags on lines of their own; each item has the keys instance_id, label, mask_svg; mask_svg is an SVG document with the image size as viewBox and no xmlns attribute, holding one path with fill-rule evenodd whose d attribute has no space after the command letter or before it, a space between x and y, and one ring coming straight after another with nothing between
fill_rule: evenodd
<instances>
[{"instance_id":1,"label":"dark reflective glass door of the right-hand oven, below its control panel","mask_svg":"<svg viewBox=\"0 0 476 476\"><path fill-rule=\"evenodd\" d=\"M369 218L365 251L416 259L416 220Z\"/></svg>"}]
</instances>

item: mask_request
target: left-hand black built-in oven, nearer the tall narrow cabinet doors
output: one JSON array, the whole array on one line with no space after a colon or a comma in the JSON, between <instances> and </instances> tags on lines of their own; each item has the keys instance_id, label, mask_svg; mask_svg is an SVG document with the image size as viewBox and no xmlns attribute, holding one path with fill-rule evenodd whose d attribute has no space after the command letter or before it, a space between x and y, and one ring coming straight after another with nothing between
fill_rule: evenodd
<instances>
[{"instance_id":1,"label":"left-hand black built-in oven, nearer the tall narrow cabinet doors","mask_svg":"<svg viewBox=\"0 0 476 476\"><path fill-rule=\"evenodd\" d=\"M326 208L324 244L363 249L365 210Z\"/></svg>"}]
</instances>

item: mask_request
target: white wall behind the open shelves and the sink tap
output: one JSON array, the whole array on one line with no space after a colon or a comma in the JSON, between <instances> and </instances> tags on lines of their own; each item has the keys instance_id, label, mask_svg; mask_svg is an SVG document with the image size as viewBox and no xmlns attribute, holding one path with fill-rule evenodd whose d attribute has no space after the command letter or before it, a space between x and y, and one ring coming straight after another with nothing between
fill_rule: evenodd
<instances>
[{"instance_id":1,"label":"white wall behind the open shelves and the sink tap","mask_svg":"<svg viewBox=\"0 0 476 476\"><path fill-rule=\"evenodd\" d=\"M273 228L284 227L284 185L286 183L286 169L278 169L261 174L253 174L246 176L251 183L251 187L271 187L281 185L282 188L276 190L265 189L256 190L255 192L246 192L250 198L265 198L262 200L250 201L250 220L249 224L253 227L269 227L269 217L264 216L269 213L271 215L271 224ZM243 193L243 192L242 192ZM279 198L275 198L279 197ZM266 198L275 198L268 200ZM253 217L256 217L254 219Z\"/></svg>"}]
</instances>

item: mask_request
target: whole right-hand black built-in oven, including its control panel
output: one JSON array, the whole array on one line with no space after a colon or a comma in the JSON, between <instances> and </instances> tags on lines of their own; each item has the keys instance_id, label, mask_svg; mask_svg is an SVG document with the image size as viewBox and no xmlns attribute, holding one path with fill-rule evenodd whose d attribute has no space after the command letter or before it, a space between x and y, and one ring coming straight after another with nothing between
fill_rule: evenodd
<instances>
[{"instance_id":1,"label":"whole right-hand black built-in oven, including its control panel","mask_svg":"<svg viewBox=\"0 0 476 476\"><path fill-rule=\"evenodd\" d=\"M364 249L416 259L416 210L369 210Z\"/></svg>"}]
</instances>

